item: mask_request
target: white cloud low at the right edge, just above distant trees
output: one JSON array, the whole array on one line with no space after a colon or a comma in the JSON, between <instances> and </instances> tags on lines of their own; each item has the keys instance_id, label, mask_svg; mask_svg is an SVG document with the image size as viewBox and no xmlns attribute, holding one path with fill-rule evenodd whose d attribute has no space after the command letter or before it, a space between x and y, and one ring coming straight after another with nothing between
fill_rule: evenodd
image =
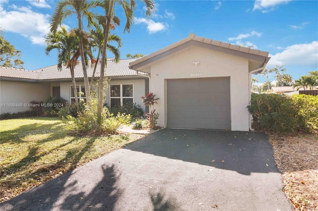
<instances>
[{"instance_id":1,"label":"white cloud low at the right edge, just above distant trees","mask_svg":"<svg viewBox=\"0 0 318 211\"><path fill-rule=\"evenodd\" d=\"M318 66L318 41L287 47L283 52L270 55L269 66L306 65Z\"/></svg>"}]
</instances>

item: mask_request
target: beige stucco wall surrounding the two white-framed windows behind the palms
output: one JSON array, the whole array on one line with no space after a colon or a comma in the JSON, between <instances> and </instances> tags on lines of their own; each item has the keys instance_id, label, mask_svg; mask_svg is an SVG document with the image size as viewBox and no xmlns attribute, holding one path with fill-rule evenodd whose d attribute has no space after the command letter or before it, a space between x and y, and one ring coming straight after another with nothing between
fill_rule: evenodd
<instances>
[{"instance_id":1,"label":"beige stucco wall surrounding the two white-framed windows behind the palms","mask_svg":"<svg viewBox=\"0 0 318 211\"><path fill-rule=\"evenodd\" d=\"M77 82L77 85L84 85L84 82ZM141 97L145 95L145 79L127 79L127 80L110 80L108 84L133 84L134 88L134 103L142 105ZM70 86L72 86L72 82L61 82L60 89L61 89L61 97L70 103ZM109 87L106 91L106 101L107 105L109 105ZM143 110L145 111L145 106L142 106Z\"/></svg>"}]
</instances>

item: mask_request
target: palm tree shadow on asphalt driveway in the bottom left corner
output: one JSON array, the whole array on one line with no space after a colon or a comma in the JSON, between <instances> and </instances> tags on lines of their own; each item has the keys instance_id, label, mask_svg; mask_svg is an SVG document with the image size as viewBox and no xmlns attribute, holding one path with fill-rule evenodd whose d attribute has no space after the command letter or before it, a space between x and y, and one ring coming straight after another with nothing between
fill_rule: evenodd
<instances>
[{"instance_id":1,"label":"palm tree shadow on asphalt driveway in the bottom left corner","mask_svg":"<svg viewBox=\"0 0 318 211\"><path fill-rule=\"evenodd\" d=\"M1 204L6 211L105 210L112 211L122 191L117 188L115 166L101 166L98 172L76 170L26 191ZM100 181L96 179L101 178Z\"/></svg>"}]
</instances>

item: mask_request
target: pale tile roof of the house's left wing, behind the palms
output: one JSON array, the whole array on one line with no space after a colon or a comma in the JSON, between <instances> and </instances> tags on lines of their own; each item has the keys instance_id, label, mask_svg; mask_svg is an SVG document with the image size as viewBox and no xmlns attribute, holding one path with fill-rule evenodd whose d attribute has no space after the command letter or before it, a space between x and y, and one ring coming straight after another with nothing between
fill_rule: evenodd
<instances>
[{"instance_id":1,"label":"pale tile roof of the house's left wing, behind the palms","mask_svg":"<svg viewBox=\"0 0 318 211\"><path fill-rule=\"evenodd\" d=\"M135 70L129 69L129 62L135 61L136 58L121 59L118 63L114 59L107 59L107 68L105 69L107 77L139 77ZM86 67L87 76L92 77L94 64ZM83 78L83 72L80 61L74 69L75 78ZM98 77L100 74L100 64L97 65L95 76ZM52 81L52 80L70 80L71 72L70 69L65 65L62 66L61 70L58 70L57 65L43 67L33 71L24 69L0 67L1 80L17 80L17 81Z\"/></svg>"}]
</instances>

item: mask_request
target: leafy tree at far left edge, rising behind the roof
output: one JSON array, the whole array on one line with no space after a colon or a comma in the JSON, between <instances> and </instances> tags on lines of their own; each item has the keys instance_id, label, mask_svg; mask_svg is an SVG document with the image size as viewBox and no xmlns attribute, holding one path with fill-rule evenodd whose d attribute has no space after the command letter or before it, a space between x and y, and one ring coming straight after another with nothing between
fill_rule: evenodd
<instances>
[{"instance_id":1,"label":"leafy tree at far left edge, rising behind the roof","mask_svg":"<svg viewBox=\"0 0 318 211\"><path fill-rule=\"evenodd\" d=\"M18 51L0 35L0 66L22 68L24 62L20 59L21 51Z\"/></svg>"}]
</instances>

